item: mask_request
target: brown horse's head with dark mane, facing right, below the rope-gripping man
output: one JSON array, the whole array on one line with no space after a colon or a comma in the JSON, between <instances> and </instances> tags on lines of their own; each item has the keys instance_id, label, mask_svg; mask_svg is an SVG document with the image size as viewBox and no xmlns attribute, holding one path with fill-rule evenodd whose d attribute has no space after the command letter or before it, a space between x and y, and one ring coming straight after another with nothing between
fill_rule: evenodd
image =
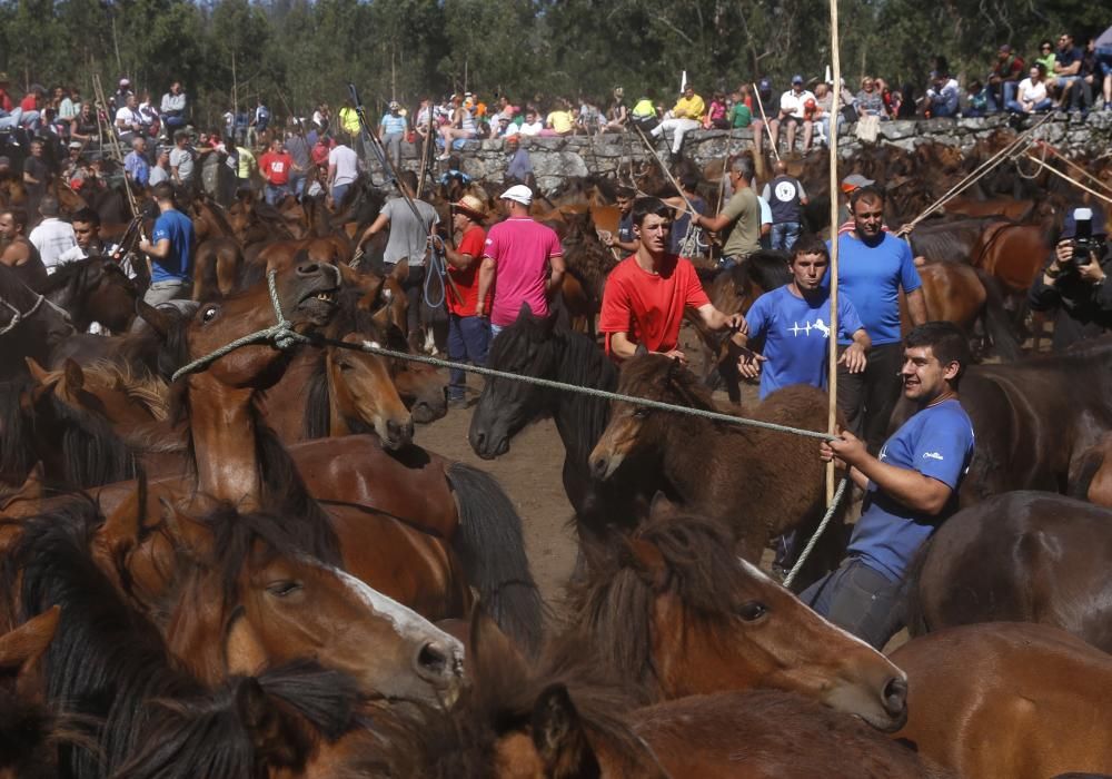
<instances>
[{"instance_id":1,"label":"brown horse's head with dark mane, facing right, below the rope-gripping man","mask_svg":"<svg viewBox=\"0 0 1112 779\"><path fill-rule=\"evenodd\" d=\"M638 690L644 702L776 688L881 730L902 727L903 672L738 560L731 545L717 523L657 509L606 552L588 548L602 559L570 585L570 623L556 651L592 648L599 671Z\"/></svg>"}]
</instances>

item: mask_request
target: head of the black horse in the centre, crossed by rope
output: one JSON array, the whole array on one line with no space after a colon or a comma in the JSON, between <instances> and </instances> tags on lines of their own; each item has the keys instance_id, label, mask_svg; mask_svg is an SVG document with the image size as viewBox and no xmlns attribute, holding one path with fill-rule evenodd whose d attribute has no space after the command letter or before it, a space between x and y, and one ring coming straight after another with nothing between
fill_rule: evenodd
<instances>
[{"instance_id":1,"label":"head of the black horse in the centre, crossed by rope","mask_svg":"<svg viewBox=\"0 0 1112 779\"><path fill-rule=\"evenodd\" d=\"M554 327L555 319L533 316L528 304L523 304L514 324L490 344L487 366L534 378L554 378L557 367ZM533 384L488 377L467 434L475 453L493 460L508 452L509 440L542 413L544 393Z\"/></svg>"}]
</instances>

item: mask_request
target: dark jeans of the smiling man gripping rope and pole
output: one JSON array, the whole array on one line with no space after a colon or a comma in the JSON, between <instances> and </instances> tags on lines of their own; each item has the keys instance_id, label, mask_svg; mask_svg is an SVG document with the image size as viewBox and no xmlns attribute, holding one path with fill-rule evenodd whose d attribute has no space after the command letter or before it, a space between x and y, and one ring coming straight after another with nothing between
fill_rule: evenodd
<instances>
[{"instance_id":1,"label":"dark jeans of the smiling man gripping rope and pole","mask_svg":"<svg viewBox=\"0 0 1112 779\"><path fill-rule=\"evenodd\" d=\"M800 600L876 649L883 649L904 621L903 583L890 581L860 558L843 560Z\"/></svg>"}]
</instances>

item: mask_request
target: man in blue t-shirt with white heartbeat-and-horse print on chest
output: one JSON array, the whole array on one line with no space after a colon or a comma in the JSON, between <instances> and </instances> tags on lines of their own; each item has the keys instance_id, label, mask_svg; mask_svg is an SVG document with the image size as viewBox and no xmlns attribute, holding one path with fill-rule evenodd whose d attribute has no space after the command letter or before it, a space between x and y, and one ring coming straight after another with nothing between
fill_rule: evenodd
<instances>
[{"instance_id":1,"label":"man in blue t-shirt with white heartbeat-and-horse print on chest","mask_svg":"<svg viewBox=\"0 0 1112 779\"><path fill-rule=\"evenodd\" d=\"M764 339L761 354L748 353L738 364L747 378L761 375L761 400L791 384L827 385L827 348L831 337L831 294L822 285L830 253L817 236L800 238L792 250L792 280L758 297L745 315L749 323L746 341ZM865 369L870 339L857 312L845 295L838 296L838 333L852 341L838 356L838 364L858 374ZM762 365L763 363L763 365Z\"/></svg>"}]
</instances>

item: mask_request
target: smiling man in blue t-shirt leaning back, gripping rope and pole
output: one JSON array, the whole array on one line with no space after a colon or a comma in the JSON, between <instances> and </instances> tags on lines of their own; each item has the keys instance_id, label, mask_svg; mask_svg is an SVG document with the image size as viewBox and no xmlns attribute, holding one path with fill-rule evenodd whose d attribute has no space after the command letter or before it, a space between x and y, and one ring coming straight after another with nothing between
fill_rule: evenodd
<instances>
[{"instance_id":1,"label":"smiling man in blue t-shirt leaning back, gripping rope and pole","mask_svg":"<svg viewBox=\"0 0 1112 779\"><path fill-rule=\"evenodd\" d=\"M874 457L852 433L823 442L820 455L850 469L864 490L846 559L807 588L804 603L882 649L903 623L904 575L935 527L957 510L957 489L973 457L973 424L957 401L970 363L956 325L929 322L907 334L900 372L919 411Z\"/></svg>"}]
</instances>

